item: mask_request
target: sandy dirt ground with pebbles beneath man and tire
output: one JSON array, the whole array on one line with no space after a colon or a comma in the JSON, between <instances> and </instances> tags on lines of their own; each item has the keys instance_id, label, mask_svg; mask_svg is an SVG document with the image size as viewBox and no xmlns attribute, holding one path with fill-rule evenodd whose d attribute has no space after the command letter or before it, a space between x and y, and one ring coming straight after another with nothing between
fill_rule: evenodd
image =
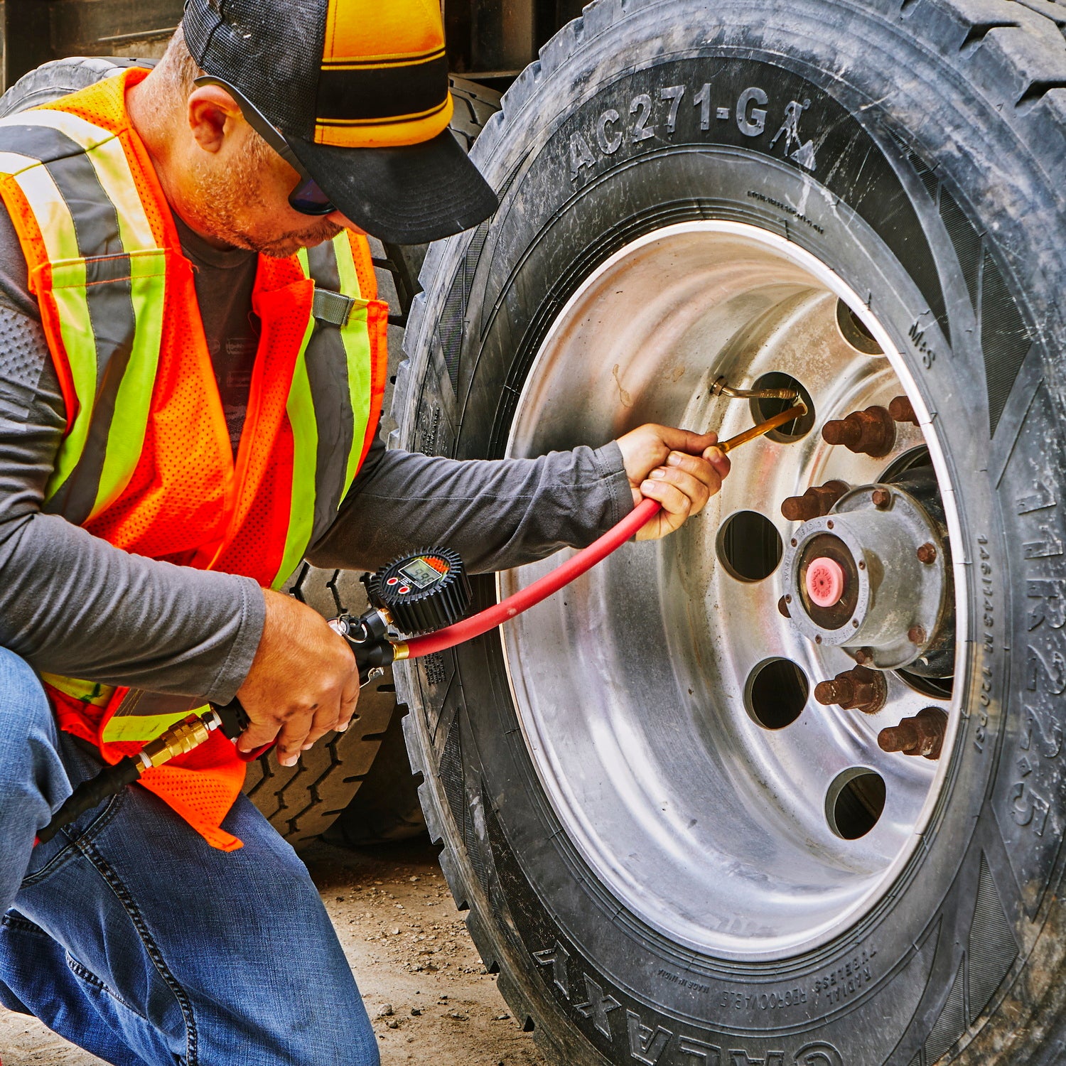
<instances>
[{"instance_id":1,"label":"sandy dirt ground with pebbles beneath man and tire","mask_svg":"<svg viewBox=\"0 0 1066 1066\"><path fill-rule=\"evenodd\" d=\"M547 1066L474 951L427 843L305 855L355 971L383 1066ZM99 1066L0 1008L3 1066Z\"/></svg>"}]
</instances>

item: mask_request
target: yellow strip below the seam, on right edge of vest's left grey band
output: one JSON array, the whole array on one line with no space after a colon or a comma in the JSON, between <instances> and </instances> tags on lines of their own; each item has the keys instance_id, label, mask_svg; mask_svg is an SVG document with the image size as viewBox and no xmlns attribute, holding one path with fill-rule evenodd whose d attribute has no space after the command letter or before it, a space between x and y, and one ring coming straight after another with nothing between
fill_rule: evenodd
<instances>
[{"instance_id":1,"label":"yellow strip below the seam, on right edge of vest's left grey band","mask_svg":"<svg viewBox=\"0 0 1066 1066\"><path fill-rule=\"evenodd\" d=\"M130 294L136 328L129 362L115 397L115 416L108 432L91 518L118 499L141 458L163 343L165 290L166 253L133 253L130 256Z\"/></svg>"}]
</instances>

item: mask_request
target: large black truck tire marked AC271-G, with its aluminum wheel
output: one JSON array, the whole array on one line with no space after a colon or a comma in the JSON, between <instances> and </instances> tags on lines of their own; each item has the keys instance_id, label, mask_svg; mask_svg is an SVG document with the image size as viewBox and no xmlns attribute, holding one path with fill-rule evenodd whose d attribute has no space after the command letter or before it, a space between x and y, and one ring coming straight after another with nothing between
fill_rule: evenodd
<instances>
[{"instance_id":1,"label":"large black truck tire marked AC271-G, with its aluminum wheel","mask_svg":"<svg viewBox=\"0 0 1066 1066\"><path fill-rule=\"evenodd\" d=\"M395 445L772 411L720 376L810 408L679 533L397 664L441 865L553 1062L1062 1062L1064 25L597 0L474 146L501 207L426 257ZM853 413L825 433L865 451L822 432ZM860 526L819 614L805 546ZM938 758L882 749L908 717Z\"/></svg>"}]
</instances>

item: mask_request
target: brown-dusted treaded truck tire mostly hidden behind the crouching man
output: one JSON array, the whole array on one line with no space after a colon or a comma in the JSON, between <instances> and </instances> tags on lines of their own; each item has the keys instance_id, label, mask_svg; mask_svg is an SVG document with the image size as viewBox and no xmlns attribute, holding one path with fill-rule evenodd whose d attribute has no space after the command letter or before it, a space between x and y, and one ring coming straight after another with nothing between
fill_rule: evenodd
<instances>
[{"instance_id":1,"label":"brown-dusted treaded truck tire mostly hidden behind the crouching man","mask_svg":"<svg viewBox=\"0 0 1066 1066\"><path fill-rule=\"evenodd\" d=\"M129 66L151 66L154 61L117 56L70 56L29 71L0 96L0 117L58 99L68 93L110 78ZM469 150L485 120L499 109L499 94L463 79L452 79L455 100L453 129ZM415 278L425 255L424 247L390 245L375 260L383 296L389 298L398 325L406 320L416 291ZM390 361L399 361L403 334L390 328ZM392 368L394 370L394 366ZM313 607L327 618L342 611L359 614L367 598L358 575L322 570L302 563L286 591ZM367 795L334 835L338 843L369 844L415 836L425 823L418 803L418 782L402 744L390 743L387 758L370 775L383 739L399 734L399 717L392 678L366 685L349 729L304 752L294 766L281 766L272 753L249 764L244 791L270 823L297 850L318 839L352 804L365 785ZM389 732L389 724L395 725Z\"/></svg>"}]
</instances>

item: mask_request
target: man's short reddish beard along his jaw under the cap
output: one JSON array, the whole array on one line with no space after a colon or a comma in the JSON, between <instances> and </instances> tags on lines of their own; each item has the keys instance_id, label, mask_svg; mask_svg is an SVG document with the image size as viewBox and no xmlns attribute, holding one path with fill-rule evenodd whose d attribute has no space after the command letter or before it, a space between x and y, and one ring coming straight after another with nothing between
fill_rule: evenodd
<instances>
[{"instance_id":1,"label":"man's short reddish beard along his jaw under the cap","mask_svg":"<svg viewBox=\"0 0 1066 1066\"><path fill-rule=\"evenodd\" d=\"M333 240L344 227L310 215L306 226L282 233L249 228L249 215L270 216L262 196L262 178L276 163L273 149L259 136L248 139L246 149L223 174L212 171L205 161L197 167L196 194L190 204L196 214L196 228L206 237L275 259L287 259L301 248Z\"/></svg>"}]
</instances>

